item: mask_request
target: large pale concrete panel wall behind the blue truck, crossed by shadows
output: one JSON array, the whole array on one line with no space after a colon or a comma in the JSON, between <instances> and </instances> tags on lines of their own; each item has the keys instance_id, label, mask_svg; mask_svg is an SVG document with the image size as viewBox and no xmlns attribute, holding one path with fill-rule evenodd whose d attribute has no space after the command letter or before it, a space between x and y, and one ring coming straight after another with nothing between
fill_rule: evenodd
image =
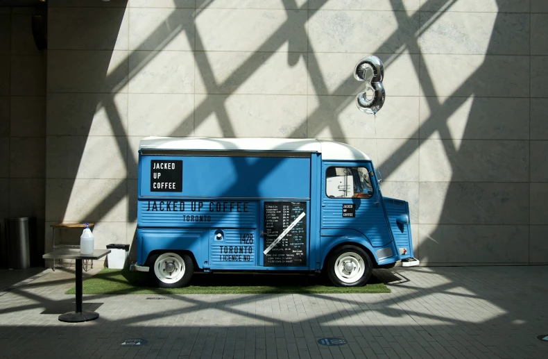
<instances>
[{"instance_id":1,"label":"large pale concrete panel wall behind the blue truck, crossed by shadows","mask_svg":"<svg viewBox=\"0 0 548 359\"><path fill-rule=\"evenodd\" d=\"M147 135L321 137L409 201L422 263L547 263L547 24L543 0L49 0L46 226L132 244Z\"/></svg>"}]
</instances>

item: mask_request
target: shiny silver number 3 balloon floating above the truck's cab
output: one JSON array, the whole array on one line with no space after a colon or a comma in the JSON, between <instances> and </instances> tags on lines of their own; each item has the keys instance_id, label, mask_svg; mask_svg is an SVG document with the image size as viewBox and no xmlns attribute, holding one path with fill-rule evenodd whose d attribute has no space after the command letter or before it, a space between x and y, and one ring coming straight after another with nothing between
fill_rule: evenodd
<instances>
[{"instance_id":1,"label":"shiny silver number 3 balloon floating above the truck's cab","mask_svg":"<svg viewBox=\"0 0 548 359\"><path fill-rule=\"evenodd\" d=\"M366 82L366 90L356 97L356 104L361 112L375 114L384 105L384 66L377 56L362 58L354 67L354 78Z\"/></svg>"}]
</instances>

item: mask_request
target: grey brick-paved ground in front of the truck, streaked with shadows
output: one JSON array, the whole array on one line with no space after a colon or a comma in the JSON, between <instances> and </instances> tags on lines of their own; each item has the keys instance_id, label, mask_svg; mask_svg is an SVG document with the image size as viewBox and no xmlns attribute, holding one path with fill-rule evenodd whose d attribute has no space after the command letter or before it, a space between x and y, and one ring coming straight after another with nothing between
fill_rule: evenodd
<instances>
[{"instance_id":1,"label":"grey brick-paved ground in front of the truck, streaked with shadows","mask_svg":"<svg viewBox=\"0 0 548 359\"><path fill-rule=\"evenodd\" d=\"M0 357L548 358L537 339L548 335L548 266L376 274L391 294L89 295L85 308L101 317L66 324L74 272L4 270ZM122 347L128 338L148 343Z\"/></svg>"}]
</instances>

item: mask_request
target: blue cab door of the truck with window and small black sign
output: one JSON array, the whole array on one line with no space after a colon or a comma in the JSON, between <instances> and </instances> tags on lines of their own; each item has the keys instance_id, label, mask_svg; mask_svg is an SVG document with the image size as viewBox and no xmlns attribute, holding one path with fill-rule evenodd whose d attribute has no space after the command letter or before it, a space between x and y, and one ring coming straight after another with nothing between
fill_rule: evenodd
<instances>
[{"instance_id":1,"label":"blue cab door of the truck with window and small black sign","mask_svg":"<svg viewBox=\"0 0 548 359\"><path fill-rule=\"evenodd\" d=\"M392 241L373 178L370 162L323 163L322 230L357 231L365 235L373 247Z\"/></svg>"}]
</instances>

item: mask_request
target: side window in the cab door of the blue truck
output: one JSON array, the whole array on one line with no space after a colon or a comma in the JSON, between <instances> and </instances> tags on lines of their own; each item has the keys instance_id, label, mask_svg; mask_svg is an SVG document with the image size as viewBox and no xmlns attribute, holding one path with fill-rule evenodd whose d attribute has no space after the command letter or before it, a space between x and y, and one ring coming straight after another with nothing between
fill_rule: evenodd
<instances>
[{"instance_id":1,"label":"side window in the cab door of the blue truck","mask_svg":"<svg viewBox=\"0 0 548 359\"><path fill-rule=\"evenodd\" d=\"M329 198L370 198L373 186L366 167L327 167L325 192Z\"/></svg>"}]
</instances>

